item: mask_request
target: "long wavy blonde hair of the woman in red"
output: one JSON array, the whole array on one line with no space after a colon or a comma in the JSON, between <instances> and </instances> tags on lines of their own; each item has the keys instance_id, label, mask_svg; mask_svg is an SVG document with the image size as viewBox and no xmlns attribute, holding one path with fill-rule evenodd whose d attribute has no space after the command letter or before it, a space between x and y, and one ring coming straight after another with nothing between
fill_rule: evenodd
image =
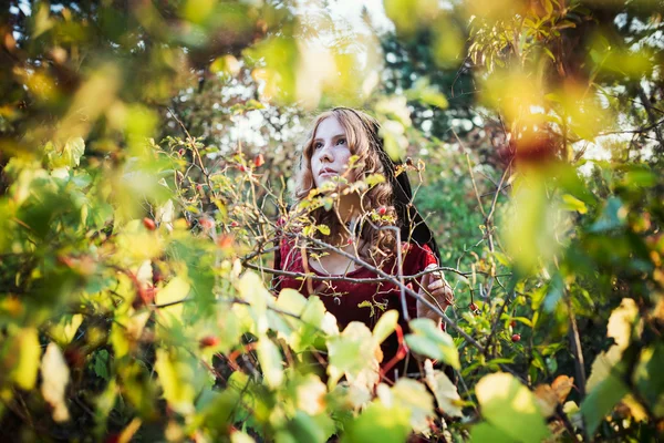
<instances>
[{"instance_id":1,"label":"long wavy blonde hair of the woman in red","mask_svg":"<svg viewBox=\"0 0 664 443\"><path fill-rule=\"evenodd\" d=\"M354 163L355 168L350 172L355 179L364 179L372 174L380 174L385 177L385 181L371 187L362 194L361 207L363 215L373 209L384 207L381 210L385 218L396 219L396 210L394 207L394 192L391 184L391 178L387 174L393 174L392 171L385 171L382 156L385 152L382 147L383 141L378 136L380 124L372 116L361 111L355 111L349 107L335 107L320 114L314 121L307 142L302 150L300 162L300 174L295 185L294 199L299 204L304 200L311 189L315 188L313 172L311 169L311 156L313 153L313 140L320 123L328 117L336 117L341 126L345 131L346 143L351 150L351 155L357 156L357 162ZM353 182L352 179L350 182ZM312 222L317 225L326 225L330 228L330 234L326 236L317 231L317 236L332 245L339 244L342 239L342 233L346 229L339 219L334 210L325 210L323 207L317 208L310 213ZM362 223L364 222L364 223ZM373 224L373 226L372 226ZM383 258L392 257L395 250L396 236L392 229L377 229L381 226L391 225L387 222L361 220L361 237L369 243L369 248L360 250L360 254L372 261L382 261ZM383 256L383 257L380 257Z\"/></svg>"}]
</instances>

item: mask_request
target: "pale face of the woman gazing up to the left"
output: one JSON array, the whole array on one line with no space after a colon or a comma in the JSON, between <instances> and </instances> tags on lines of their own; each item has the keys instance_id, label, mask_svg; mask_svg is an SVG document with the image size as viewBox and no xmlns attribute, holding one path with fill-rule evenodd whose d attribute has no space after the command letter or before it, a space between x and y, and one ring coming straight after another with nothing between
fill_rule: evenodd
<instances>
[{"instance_id":1,"label":"pale face of the woman gazing up to the left","mask_svg":"<svg viewBox=\"0 0 664 443\"><path fill-rule=\"evenodd\" d=\"M317 187L347 169L351 148L335 116L329 116L319 124L311 148L311 172Z\"/></svg>"}]
</instances>

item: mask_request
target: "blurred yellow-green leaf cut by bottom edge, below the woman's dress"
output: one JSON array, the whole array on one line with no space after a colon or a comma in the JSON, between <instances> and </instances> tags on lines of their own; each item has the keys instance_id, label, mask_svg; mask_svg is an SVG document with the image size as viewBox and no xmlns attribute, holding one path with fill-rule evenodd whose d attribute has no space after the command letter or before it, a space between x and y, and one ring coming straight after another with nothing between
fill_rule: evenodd
<instances>
[{"instance_id":1,"label":"blurred yellow-green leaf cut by bottom edge, below the woman's dress","mask_svg":"<svg viewBox=\"0 0 664 443\"><path fill-rule=\"evenodd\" d=\"M403 443L411 433L411 411L374 401L345 426L342 443Z\"/></svg>"}]
</instances>

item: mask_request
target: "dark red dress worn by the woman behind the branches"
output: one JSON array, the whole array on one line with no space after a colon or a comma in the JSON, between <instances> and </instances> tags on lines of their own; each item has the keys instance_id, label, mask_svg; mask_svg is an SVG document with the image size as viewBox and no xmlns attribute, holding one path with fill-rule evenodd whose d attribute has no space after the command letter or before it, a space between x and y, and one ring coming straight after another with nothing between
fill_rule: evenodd
<instances>
[{"instance_id":1,"label":"dark red dress worn by the woman behind the branches","mask_svg":"<svg viewBox=\"0 0 664 443\"><path fill-rule=\"evenodd\" d=\"M294 239L281 240L280 245L280 268L282 270L292 272L304 272L304 266L302 262L302 254L299 247L295 247ZM402 247L402 259L403 259L403 275L412 276L421 272L429 265L438 265L436 256L432 253L430 248L426 245L419 246L417 244L403 244ZM396 257L392 260L387 260L382 270L390 275L397 274ZM311 266L309 271L319 276L326 277L325 274L320 274ZM378 276L364 267L356 268L344 274L344 277L350 278L377 278ZM406 284L412 282L413 288L417 290L419 286L411 280L406 280ZM281 290L283 288L291 288L300 291L304 297L310 296L310 285L304 279L297 279L290 276L279 276L277 279L276 288ZM361 321L365 323L371 330L373 330L378 318L391 309L396 309L400 312L400 324L407 332L407 323L403 318L403 309L401 302L401 291L398 287L392 282L378 281L378 282L353 282L342 280L311 280L311 288L313 293L318 295L325 309L336 318L339 329L343 330L351 321ZM417 317L416 300L413 297L406 295L406 308L409 317ZM383 350L383 363L390 361L398 350L398 340L396 334L393 333L382 344ZM409 359L408 372L416 371L417 365L414 364L414 359ZM398 375L403 377L404 368L403 364L396 367ZM388 377L392 379L392 370Z\"/></svg>"}]
</instances>

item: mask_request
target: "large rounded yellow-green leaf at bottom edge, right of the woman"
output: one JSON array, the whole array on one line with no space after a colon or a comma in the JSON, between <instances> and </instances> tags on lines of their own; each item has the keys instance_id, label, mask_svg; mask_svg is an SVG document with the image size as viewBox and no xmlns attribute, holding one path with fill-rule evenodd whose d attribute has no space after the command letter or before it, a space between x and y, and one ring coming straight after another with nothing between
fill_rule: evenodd
<instances>
[{"instance_id":1,"label":"large rounded yellow-green leaf at bottom edge, right of the woman","mask_svg":"<svg viewBox=\"0 0 664 443\"><path fill-rule=\"evenodd\" d=\"M532 392L509 373L484 377L475 393L483 416L500 432L517 442L541 442L549 429Z\"/></svg>"}]
</instances>

